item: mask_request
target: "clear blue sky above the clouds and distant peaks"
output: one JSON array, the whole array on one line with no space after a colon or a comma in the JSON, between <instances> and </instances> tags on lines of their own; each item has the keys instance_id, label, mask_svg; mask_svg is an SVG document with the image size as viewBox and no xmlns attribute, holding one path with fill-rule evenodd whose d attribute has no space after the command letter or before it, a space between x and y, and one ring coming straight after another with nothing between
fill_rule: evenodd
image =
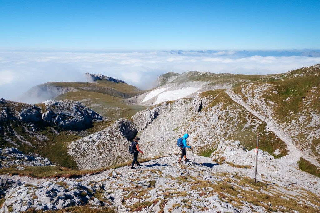
<instances>
[{"instance_id":1,"label":"clear blue sky above the clouds and distant peaks","mask_svg":"<svg viewBox=\"0 0 320 213\"><path fill-rule=\"evenodd\" d=\"M0 1L0 49L320 49L320 1Z\"/></svg>"}]
</instances>

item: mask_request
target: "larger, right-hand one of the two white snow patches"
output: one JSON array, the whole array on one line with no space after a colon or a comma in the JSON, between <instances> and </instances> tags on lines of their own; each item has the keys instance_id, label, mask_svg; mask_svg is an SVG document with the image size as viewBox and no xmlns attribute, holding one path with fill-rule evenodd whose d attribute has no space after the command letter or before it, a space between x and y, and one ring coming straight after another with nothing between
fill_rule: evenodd
<instances>
[{"instance_id":1,"label":"larger, right-hand one of the two white snow patches","mask_svg":"<svg viewBox=\"0 0 320 213\"><path fill-rule=\"evenodd\" d=\"M153 105L160 104L163 101L182 99L198 90L200 90L200 88L185 87L179 90L166 91L158 95L158 98Z\"/></svg>"}]
</instances>

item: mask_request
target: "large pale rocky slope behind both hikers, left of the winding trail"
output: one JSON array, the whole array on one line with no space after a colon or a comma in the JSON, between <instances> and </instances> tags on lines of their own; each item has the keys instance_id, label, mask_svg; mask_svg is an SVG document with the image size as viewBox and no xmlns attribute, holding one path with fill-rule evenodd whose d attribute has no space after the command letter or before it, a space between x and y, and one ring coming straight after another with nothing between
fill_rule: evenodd
<instances>
[{"instance_id":1,"label":"large pale rocky slope behind both hikers, left of the winding trail","mask_svg":"<svg viewBox=\"0 0 320 213\"><path fill-rule=\"evenodd\" d=\"M195 146L197 154L210 156L221 140L232 138L253 148L257 131L264 141L273 141L261 145L270 154L280 157L288 152L284 142L265 122L232 101L224 91L217 90L195 98L164 102L140 111L130 120L118 120L112 127L72 142L69 154L82 169L101 168L130 159L127 146L131 138L125 136L128 133L124 134L124 130L132 138L136 134L141 138L143 157L178 153L177 139L185 133L190 135L188 144Z\"/></svg>"}]
</instances>

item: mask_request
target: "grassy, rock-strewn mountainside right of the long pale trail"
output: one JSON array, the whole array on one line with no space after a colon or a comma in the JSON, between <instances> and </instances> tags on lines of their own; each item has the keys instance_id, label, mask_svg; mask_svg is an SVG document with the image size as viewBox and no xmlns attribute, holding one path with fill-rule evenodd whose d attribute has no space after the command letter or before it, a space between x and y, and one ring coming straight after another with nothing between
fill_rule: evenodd
<instances>
[{"instance_id":1,"label":"grassy, rock-strewn mountainside right of the long pale trail","mask_svg":"<svg viewBox=\"0 0 320 213\"><path fill-rule=\"evenodd\" d=\"M292 70L281 81L248 83L230 97L255 111L320 166L320 65Z\"/></svg>"}]
</instances>

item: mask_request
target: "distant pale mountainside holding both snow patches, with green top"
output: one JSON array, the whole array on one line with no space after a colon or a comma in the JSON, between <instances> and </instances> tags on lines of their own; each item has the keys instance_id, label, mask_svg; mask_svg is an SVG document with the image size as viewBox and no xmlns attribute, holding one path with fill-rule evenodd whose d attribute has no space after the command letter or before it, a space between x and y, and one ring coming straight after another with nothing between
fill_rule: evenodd
<instances>
[{"instance_id":1,"label":"distant pale mountainside holding both snow patches, with green top","mask_svg":"<svg viewBox=\"0 0 320 213\"><path fill-rule=\"evenodd\" d=\"M157 78L157 87L154 90L128 100L133 103L151 106L161 103L165 100L194 97L199 92L208 90L230 89L239 84L248 82L274 81L279 78L280 74L236 75L228 73L214 74L196 71L177 74L170 72L160 75Z\"/></svg>"}]
</instances>

